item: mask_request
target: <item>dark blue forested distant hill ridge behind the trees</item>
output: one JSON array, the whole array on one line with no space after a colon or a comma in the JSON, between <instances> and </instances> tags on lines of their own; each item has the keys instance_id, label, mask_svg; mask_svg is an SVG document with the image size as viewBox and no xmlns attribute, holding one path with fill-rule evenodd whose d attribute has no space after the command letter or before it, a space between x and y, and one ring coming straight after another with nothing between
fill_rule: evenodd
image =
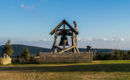
<instances>
[{"instance_id":1,"label":"dark blue forested distant hill ridge behind the trees","mask_svg":"<svg viewBox=\"0 0 130 80\"><path fill-rule=\"evenodd\" d=\"M20 44L15 44L15 45L12 45L12 46L13 46L13 49L14 49L14 55L13 56L19 56L25 48L28 48L32 55L37 55L40 51L50 52L49 48L20 45ZM3 48L3 46L0 46L0 56L1 56L2 48ZM79 48L79 50L80 50L80 52L86 52L86 48ZM109 52L112 51L112 49L92 49L91 51L96 51L96 52L99 52L99 53L109 53Z\"/></svg>"}]
</instances>

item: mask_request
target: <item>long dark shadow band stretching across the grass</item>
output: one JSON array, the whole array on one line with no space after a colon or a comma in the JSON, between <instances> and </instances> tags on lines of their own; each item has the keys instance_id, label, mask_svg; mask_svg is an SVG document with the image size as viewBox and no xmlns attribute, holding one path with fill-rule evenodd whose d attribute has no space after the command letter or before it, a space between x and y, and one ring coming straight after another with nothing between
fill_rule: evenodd
<instances>
[{"instance_id":1,"label":"long dark shadow band stretching across the grass","mask_svg":"<svg viewBox=\"0 0 130 80\"><path fill-rule=\"evenodd\" d=\"M130 64L93 64L69 66L22 66L0 67L0 71L37 71L37 72L130 72Z\"/></svg>"}]
</instances>

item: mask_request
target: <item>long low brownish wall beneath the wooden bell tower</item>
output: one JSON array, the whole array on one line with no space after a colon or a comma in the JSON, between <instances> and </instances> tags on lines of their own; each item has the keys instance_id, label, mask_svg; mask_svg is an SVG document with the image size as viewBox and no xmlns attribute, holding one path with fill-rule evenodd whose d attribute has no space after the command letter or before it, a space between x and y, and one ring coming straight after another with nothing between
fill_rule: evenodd
<instances>
[{"instance_id":1,"label":"long low brownish wall beneath the wooden bell tower","mask_svg":"<svg viewBox=\"0 0 130 80\"><path fill-rule=\"evenodd\" d=\"M62 54L51 55L50 53L40 52L40 63L77 63L77 62L92 62L93 53L80 53L80 54Z\"/></svg>"}]
</instances>

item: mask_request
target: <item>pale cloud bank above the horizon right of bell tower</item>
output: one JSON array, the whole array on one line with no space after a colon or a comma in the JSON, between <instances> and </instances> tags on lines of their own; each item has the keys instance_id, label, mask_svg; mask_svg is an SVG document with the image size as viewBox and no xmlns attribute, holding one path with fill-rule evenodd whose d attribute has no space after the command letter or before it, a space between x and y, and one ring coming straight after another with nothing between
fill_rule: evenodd
<instances>
[{"instance_id":1,"label":"pale cloud bank above the horizon right of bell tower","mask_svg":"<svg viewBox=\"0 0 130 80\"><path fill-rule=\"evenodd\" d=\"M94 48L130 49L130 41L125 38L80 38L79 47L90 45Z\"/></svg>"}]
</instances>

